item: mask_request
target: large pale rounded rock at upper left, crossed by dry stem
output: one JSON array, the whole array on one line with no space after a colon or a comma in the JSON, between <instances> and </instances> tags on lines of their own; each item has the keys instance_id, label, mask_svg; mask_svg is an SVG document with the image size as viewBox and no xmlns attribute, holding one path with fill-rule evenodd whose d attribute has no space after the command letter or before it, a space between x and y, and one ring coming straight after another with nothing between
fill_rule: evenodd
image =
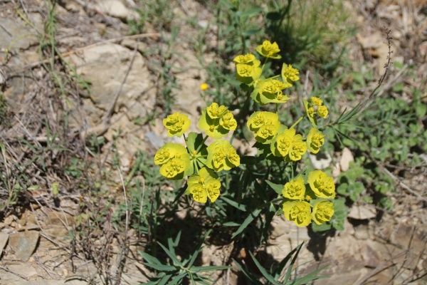
<instances>
[{"instance_id":1,"label":"large pale rounded rock at upper left, crossed by dry stem","mask_svg":"<svg viewBox=\"0 0 427 285\"><path fill-rule=\"evenodd\" d=\"M94 46L82 54L70 56L78 74L90 82L91 100L97 108L108 110L122 85L132 60L133 51L114 43ZM145 117L154 109L155 90L149 81L144 59L136 53L127 80L115 105L115 110L126 108L130 120Z\"/></svg>"}]
</instances>

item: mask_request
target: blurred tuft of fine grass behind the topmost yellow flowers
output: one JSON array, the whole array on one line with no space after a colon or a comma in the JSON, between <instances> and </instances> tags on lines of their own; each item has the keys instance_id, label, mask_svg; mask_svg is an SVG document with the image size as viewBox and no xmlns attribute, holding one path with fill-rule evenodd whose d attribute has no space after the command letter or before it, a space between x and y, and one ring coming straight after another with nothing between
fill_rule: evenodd
<instances>
[{"instance_id":1,"label":"blurred tuft of fine grass behind the topmost yellow flowers","mask_svg":"<svg viewBox=\"0 0 427 285\"><path fill-rule=\"evenodd\" d=\"M283 58L296 66L314 63L322 73L332 75L355 33L348 19L344 1L270 1L265 33L283 46Z\"/></svg>"}]
</instances>

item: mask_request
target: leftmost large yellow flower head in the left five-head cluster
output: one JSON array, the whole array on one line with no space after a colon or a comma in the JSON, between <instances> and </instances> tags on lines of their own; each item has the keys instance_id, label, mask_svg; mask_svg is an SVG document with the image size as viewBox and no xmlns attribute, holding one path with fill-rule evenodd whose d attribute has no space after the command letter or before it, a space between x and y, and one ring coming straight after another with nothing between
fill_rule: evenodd
<instances>
[{"instance_id":1,"label":"leftmost large yellow flower head in the left five-head cluster","mask_svg":"<svg viewBox=\"0 0 427 285\"><path fill-rule=\"evenodd\" d=\"M161 165L160 174L171 180L179 180L191 171L190 155L186 148L174 142L167 142L154 155L154 163Z\"/></svg>"}]
</instances>

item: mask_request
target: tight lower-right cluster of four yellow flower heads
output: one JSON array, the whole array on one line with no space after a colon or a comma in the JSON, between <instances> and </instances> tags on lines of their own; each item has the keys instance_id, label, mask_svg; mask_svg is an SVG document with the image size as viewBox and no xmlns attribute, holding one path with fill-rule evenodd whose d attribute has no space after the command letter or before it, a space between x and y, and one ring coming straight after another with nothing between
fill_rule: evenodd
<instances>
[{"instance_id":1,"label":"tight lower-right cluster of four yellow flower heads","mask_svg":"<svg viewBox=\"0 0 427 285\"><path fill-rule=\"evenodd\" d=\"M308 175L307 183L309 186L306 187L304 179L297 177L286 183L282 190L285 218L298 227L305 227L312 221L316 224L328 222L334 214L334 204L329 200L335 197L332 177L315 170Z\"/></svg>"}]
</instances>

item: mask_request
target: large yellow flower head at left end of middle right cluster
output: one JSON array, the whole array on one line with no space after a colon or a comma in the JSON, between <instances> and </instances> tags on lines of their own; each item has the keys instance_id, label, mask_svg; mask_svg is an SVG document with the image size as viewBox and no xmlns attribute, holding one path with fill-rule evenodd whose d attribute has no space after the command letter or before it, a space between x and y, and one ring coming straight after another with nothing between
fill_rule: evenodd
<instances>
[{"instance_id":1,"label":"large yellow flower head at left end of middle right cluster","mask_svg":"<svg viewBox=\"0 0 427 285\"><path fill-rule=\"evenodd\" d=\"M270 143L280 130L279 116L271 112L255 112L246 124L255 133L255 140L261 143Z\"/></svg>"}]
</instances>

